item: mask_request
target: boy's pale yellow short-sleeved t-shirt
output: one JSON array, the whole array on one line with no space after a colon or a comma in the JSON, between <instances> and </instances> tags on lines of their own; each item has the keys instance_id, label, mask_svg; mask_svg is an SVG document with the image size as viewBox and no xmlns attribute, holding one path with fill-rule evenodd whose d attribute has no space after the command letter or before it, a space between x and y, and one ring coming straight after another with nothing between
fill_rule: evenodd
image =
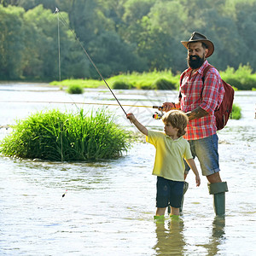
<instances>
[{"instance_id":1,"label":"boy's pale yellow short-sleeved t-shirt","mask_svg":"<svg viewBox=\"0 0 256 256\"><path fill-rule=\"evenodd\" d=\"M183 159L193 158L188 141L183 137L173 140L160 131L148 131L146 141L156 149L152 174L173 181L184 181Z\"/></svg>"}]
</instances>

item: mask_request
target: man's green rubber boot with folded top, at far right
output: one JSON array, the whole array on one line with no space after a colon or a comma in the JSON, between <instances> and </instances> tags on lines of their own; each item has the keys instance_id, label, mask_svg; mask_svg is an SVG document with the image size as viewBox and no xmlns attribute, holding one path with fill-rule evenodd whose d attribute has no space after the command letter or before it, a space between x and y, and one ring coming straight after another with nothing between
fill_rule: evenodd
<instances>
[{"instance_id":1,"label":"man's green rubber boot with folded top, at far right","mask_svg":"<svg viewBox=\"0 0 256 256\"><path fill-rule=\"evenodd\" d=\"M228 185L223 183L208 183L209 194L213 195L213 207L216 215L225 214L225 192L228 192Z\"/></svg>"}]
</instances>

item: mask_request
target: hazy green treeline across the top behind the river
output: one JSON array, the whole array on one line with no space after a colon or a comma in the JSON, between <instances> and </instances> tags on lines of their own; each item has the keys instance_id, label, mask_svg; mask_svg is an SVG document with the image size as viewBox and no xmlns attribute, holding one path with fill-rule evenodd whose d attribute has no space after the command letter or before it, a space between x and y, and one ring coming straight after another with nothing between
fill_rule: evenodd
<instances>
[{"instance_id":1,"label":"hazy green treeline across the top behind the river","mask_svg":"<svg viewBox=\"0 0 256 256\"><path fill-rule=\"evenodd\" d=\"M194 31L215 44L219 70L255 73L255 10L256 0L0 0L0 80L59 79L58 17L61 79L98 78L74 34L106 78L182 72L180 41Z\"/></svg>"}]
</instances>

